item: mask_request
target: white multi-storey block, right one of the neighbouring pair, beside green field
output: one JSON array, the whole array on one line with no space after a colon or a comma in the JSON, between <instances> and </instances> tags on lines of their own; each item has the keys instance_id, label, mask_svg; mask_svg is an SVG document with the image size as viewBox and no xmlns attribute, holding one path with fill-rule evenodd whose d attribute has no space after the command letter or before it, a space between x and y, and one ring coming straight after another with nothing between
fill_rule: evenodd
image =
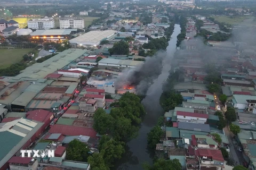
<instances>
[{"instance_id":1,"label":"white multi-storey block, right one of the neighbouring pair, beside green field","mask_svg":"<svg viewBox=\"0 0 256 170\"><path fill-rule=\"evenodd\" d=\"M84 18L61 18L60 29L67 28L84 28Z\"/></svg>"}]
</instances>

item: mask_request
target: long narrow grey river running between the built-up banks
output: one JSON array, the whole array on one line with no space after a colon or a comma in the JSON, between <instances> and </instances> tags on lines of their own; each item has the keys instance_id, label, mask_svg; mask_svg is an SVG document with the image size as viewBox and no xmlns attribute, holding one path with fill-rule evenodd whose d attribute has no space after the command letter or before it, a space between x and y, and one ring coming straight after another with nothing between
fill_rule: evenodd
<instances>
[{"instance_id":1,"label":"long narrow grey river running between the built-up banks","mask_svg":"<svg viewBox=\"0 0 256 170\"><path fill-rule=\"evenodd\" d=\"M169 46L166 48L166 55L163 58L162 73L149 87L146 97L142 100L147 114L141 123L139 135L127 143L128 147L126 148L125 155L116 163L113 169L142 170L142 164L144 162L153 163L154 151L147 148L147 133L155 126L158 117L164 113L159 104L159 98L163 91L163 82L167 79L171 69L171 61L176 51L177 36L179 33L180 25L175 24L172 38L169 41Z\"/></svg>"}]
</instances>

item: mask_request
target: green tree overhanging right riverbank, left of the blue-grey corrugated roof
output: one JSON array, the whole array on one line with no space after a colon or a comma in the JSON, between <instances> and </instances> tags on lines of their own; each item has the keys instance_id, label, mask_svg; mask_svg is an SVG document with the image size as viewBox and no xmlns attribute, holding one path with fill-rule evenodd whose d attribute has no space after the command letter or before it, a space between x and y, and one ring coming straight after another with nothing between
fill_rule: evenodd
<instances>
[{"instance_id":1,"label":"green tree overhanging right riverbank, left of the blue-grey corrugated roof","mask_svg":"<svg viewBox=\"0 0 256 170\"><path fill-rule=\"evenodd\" d=\"M148 147L156 148L156 144L159 142L164 132L159 126L154 126L153 129L148 133Z\"/></svg>"}]
</instances>

